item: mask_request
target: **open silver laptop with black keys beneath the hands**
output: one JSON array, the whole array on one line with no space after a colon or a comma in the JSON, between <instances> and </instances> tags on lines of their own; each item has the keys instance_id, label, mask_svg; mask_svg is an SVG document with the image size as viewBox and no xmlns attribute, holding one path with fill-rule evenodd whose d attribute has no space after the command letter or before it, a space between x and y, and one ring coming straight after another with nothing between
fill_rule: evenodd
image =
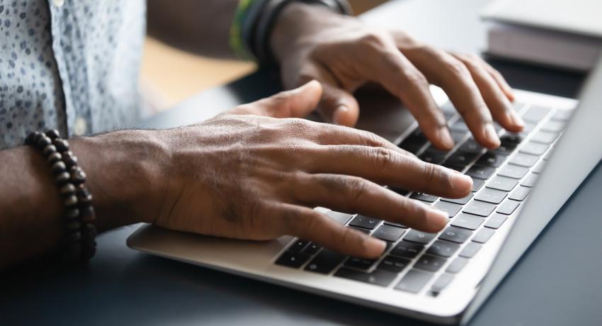
<instances>
[{"instance_id":1,"label":"open silver laptop with black keys beneath the hands","mask_svg":"<svg viewBox=\"0 0 602 326\"><path fill-rule=\"evenodd\" d=\"M602 158L602 62L579 101L516 91L522 133L497 128L501 147L485 150L441 89L433 89L456 146L436 150L407 110L385 96L365 96L360 128L375 131L434 164L472 176L472 193L449 199L393 189L449 215L437 234L378 216L315 208L387 241L378 259L346 257L317 243L283 236L228 240L144 225L130 247L239 276L441 324L465 324ZM361 96L360 96L361 97ZM365 114L364 114L365 113Z\"/></svg>"}]
</instances>

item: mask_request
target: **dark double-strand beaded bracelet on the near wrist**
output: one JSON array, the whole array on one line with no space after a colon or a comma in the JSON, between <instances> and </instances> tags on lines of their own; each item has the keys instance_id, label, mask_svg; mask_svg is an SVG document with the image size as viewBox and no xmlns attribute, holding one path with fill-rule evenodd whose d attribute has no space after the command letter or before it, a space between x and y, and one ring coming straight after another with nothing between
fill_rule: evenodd
<instances>
[{"instance_id":1,"label":"dark double-strand beaded bracelet on the near wrist","mask_svg":"<svg viewBox=\"0 0 602 326\"><path fill-rule=\"evenodd\" d=\"M69 150L69 142L62 139L57 130L47 130L45 133L30 133L25 145L44 155L59 189L65 222L61 258L67 262L89 261L96 253L96 213L92 195L84 186L86 174Z\"/></svg>"}]
</instances>

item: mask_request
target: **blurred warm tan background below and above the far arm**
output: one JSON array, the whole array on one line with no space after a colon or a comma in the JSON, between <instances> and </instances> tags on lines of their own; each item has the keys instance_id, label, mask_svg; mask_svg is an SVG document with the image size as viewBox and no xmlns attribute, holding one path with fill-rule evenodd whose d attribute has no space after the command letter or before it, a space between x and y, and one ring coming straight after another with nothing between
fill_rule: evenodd
<instances>
[{"instance_id":1,"label":"blurred warm tan background below and above the far arm","mask_svg":"<svg viewBox=\"0 0 602 326\"><path fill-rule=\"evenodd\" d=\"M387 0L350 0L356 14ZM169 62L169 64L166 64ZM183 52L147 38L144 43L141 85L152 110L163 111L203 89L239 79L256 69L252 62L217 60Z\"/></svg>"}]
</instances>

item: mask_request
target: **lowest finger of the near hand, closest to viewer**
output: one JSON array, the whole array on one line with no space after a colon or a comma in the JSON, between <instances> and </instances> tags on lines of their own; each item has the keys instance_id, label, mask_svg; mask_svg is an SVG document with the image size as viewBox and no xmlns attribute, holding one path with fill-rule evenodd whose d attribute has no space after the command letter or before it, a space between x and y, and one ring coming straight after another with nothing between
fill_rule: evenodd
<instances>
[{"instance_id":1,"label":"lowest finger of the near hand, closest to viewer","mask_svg":"<svg viewBox=\"0 0 602 326\"><path fill-rule=\"evenodd\" d=\"M351 227L343 227L317 210L282 204L280 232L316 242L353 257L376 258L385 251L385 242Z\"/></svg>"}]
</instances>

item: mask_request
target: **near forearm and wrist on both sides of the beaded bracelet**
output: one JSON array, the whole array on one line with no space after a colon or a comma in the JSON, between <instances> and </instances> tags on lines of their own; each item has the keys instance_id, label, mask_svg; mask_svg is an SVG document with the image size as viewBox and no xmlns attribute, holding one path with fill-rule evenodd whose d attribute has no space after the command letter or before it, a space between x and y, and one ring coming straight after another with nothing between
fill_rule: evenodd
<instances>
[{"instance_id":1,"label":"near forearm and wrist on both sides of the beaded bracelet","mask_svg":"<svg viewBox=\"0 0 602 326\"><path fill-rule=\"evenodd\" d=\"M86 172L99 232L150 222L159 211L157 184L166 157L147 131L120 131L69 140ZM0 269L57 249L63 208L50 167L31 147L0 152ZM153 189L155 188L155 189ZM143 203L143 205L140 205Z\"/></svg>"}]
</instances>

